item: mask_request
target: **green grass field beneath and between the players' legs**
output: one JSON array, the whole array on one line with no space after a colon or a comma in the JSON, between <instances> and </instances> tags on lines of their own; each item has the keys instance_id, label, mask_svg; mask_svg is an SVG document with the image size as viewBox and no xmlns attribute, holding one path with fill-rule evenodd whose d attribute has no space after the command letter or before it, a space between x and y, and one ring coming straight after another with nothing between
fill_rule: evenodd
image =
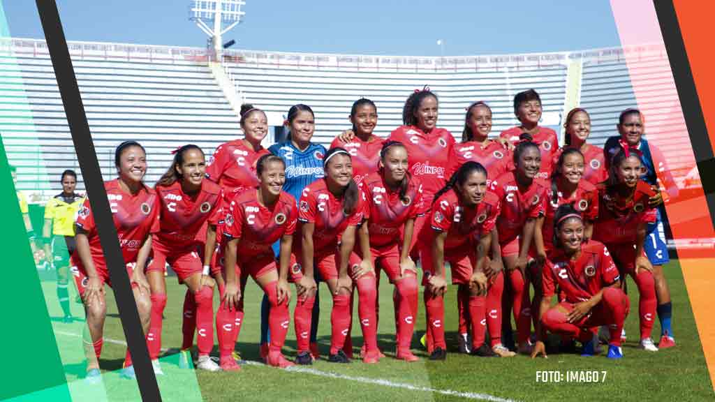
<instances>
[{"instance_id":1,"label":"green grass field beneath and between the players' legs","mask_svg":"<svg viewBox=\"0 0 715 402\"><path fill-rule=\"evenodd\" d=\"M383 280L380 286L381 320L378 342L387 358L376 365L365 365L354 361L349 365L336 365L321 359L310 370L281 370L260 364L247 364L238 373L205 373L182 371L177 368L176 355L164 356L162 368L167 373L159 378L164 401L189 400L196 395L196 381L205 401L458 401L458 400L499 400L518 401L638 401L659 398L677 401L706 401L715 397L702 353L701 343L685 291L685 285L677 261L665 268L672 293L674 332L676 348L649 353L637 348L637 315L631 313L626 320L628 341L623 345L624 358L610 361L605 356L582 358L577 355L551 353L549 358L530 360L526 356L514 358L476 358L450 353L445 362L430 362L419 344L419 337L425 328L424 307L421 303L417 332L413 338L413 349L423 358L418 363L396 361L394 356L394 330L392 286ZM384 278L383 278L384 279ZM630 283L631 306L637 309L637 291ZM175 278L167 278L169 302L165 311L163 348L178 348L181 343L181 309L184 287ZM59 306L54 298L54 283L44 282L50 315L58 317ZM455 287L445 300L445 321L450 352L456 350L456 302ZM111 292L108 293L111 299ZM247 286L245 293L245 318L241 336L237 343L242 357L247 361L259 361L259 310L260 289L255 283ZM330 294L321 285L321 320L319 343L322 353L327 353L330 345ZM635 297L635 298L634 298ZM73 304L73 313L81 315L82 308ZM355 314L357 315L357 313ZM56 338L61 345L62 360L66 364L68 381L81 378L84 367L79 350L83 323L77 321L64 324L54 321ZM362 345L357 319L354 323L353 343L355 353ZM59 335L57 335L59 332ZM75 334L72 336L72 334ZM63 335L64 334L64 335ZM660 328L656 323L654 339L659 338ZM109 301L105 338L119 340L106 341L101 365L104 370L116 371L121 368L124 357L124 339L117 316L116 306ZM289 358L295 356L295 334L292 323L284 353ZM537 382L540 371L598 371L606 374L605 381L598 383ZM105 378L114 378L105 375ZM177 382L177 379L179 381ZM79 383L75 381L75 383ZM130 400L137 398L137 387L129 381L106 381L104 386L114 396L108 400ZM186 389L184 389L186 388ZM179 389L183 391L179 391Z\"/></svg>"}]
</instances>

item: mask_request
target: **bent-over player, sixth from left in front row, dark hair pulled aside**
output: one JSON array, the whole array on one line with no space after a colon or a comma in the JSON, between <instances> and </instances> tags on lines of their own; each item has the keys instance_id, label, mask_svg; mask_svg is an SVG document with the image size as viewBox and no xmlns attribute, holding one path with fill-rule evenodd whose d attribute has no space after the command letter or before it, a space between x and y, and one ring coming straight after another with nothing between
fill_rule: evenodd
<instances>
[{"instance_id":1,"label":"bent-over player, sixth from left in front row, dark hair pulled aside","mask_svg":"<svg viewBox=\"0 0 715 402\"><path fill-rule=\"evenodd\" d=\"M499 216L499 199L487 192L487 171L477 162L462 165L433 199L430 232L420 237L424 270L427 343L430 360L447 356L444 331L444 265L450 263L452 283L468 284L472 352L497 356L485 343L485 294L488 253Z\"/></svg>"}]
</instances>

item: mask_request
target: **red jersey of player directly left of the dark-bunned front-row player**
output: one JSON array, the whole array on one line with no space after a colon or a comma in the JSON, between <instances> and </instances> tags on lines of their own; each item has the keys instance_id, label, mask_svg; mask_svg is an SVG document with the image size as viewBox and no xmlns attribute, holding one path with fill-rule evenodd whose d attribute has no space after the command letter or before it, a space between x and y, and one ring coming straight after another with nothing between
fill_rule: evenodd
<instances>
[{"instance_id":1,"label":"red jersey of player directly left of the dark-bunned front-row player","mask_svg":"<svg viewBox=\"0 0 715 402\"><path fill-rule=\"evenodd\" d=\"M478 241L494 228L501 210L501 202L492 192L487 192L484 200L475 207L463 207L454 190L449 190L435 201L430 212L433 230L425 230L423 246L432 243L435 232L447 232L445 239L445 259L448 251Z\"/></svg>"}]
</instances>

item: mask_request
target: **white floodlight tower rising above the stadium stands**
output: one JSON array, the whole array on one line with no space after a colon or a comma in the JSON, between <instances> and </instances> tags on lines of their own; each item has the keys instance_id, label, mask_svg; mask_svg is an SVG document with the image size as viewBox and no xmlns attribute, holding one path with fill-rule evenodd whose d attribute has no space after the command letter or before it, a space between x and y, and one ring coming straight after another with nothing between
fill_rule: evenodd
<instances>
[{"instance_id":1,"label":"white floodlight tower rising above the stadium stands","mask_svg":"<svg viewBox=\"0 0 715 402\"><path fill-rule=\"evenodd\" d=\"M196 21L197 26L211 38L216 58L221 61L223 44L221 36L240 24L245 11L244 0L193 0L189 9L189 20ZM213 23L213 28L209 24Z\"/></svg>"}]
</instances>

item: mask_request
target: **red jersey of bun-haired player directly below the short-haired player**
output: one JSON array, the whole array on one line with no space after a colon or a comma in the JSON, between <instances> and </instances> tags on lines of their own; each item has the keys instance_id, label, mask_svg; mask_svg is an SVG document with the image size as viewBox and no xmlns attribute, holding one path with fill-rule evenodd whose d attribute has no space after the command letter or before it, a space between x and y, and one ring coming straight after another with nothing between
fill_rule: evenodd
<instances>
[{"instance_id":1,"label":"red jersey of bun-haired player directly below the short-haired player","mask_svg":"<svg viewBox=\"0 0 715 402\"><path fill-rule=\"evenodd\" d=\"M550 186L544 180L534 179L531 186L523 189L518 186L514 172L508 172L493 180L490 188L501 200L497 231L499 243L506 245L521 235L528 218L543 215Z\"/></svg>"}]
</instances>

